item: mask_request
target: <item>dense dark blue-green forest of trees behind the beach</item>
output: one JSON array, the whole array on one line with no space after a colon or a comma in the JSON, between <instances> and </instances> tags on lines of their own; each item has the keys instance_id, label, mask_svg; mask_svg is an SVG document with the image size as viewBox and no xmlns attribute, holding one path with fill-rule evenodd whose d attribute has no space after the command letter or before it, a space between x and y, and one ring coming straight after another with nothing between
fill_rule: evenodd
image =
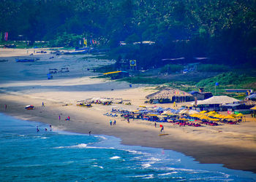
<instances>
[{"instance_id":1,"label":"dense dark blue-green forest of trees behind the beach","mask_svg":"<svg viewBox=\"0 0 256 182\"><path fill-rule=\"evenodd\" d=\"M255 0L1 0L0 9L10 40L75 47L86 37L144 68L195 57L256 65Z\"/></svg>"}]
</instances>

